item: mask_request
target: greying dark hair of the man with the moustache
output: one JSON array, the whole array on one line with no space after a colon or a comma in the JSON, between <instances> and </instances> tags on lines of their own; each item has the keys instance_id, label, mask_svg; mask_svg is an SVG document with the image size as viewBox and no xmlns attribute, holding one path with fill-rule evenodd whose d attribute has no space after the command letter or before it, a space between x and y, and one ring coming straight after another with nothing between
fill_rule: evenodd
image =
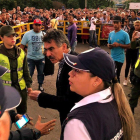
<instances>
[{"instance_id":1,"label":"greying dark hair of the man with the moustache","mask_svg":"<svg viewBox=\"0 0 140 140\"><path fill-rule=\"evenodd\" d=\"M67 48L70 48L69 40L63 31L58 29L49 29L43 37L43 42L51 43L55 41L58 47L61 47L63 43L67 44Z\"/></svg>"}]
</instances>

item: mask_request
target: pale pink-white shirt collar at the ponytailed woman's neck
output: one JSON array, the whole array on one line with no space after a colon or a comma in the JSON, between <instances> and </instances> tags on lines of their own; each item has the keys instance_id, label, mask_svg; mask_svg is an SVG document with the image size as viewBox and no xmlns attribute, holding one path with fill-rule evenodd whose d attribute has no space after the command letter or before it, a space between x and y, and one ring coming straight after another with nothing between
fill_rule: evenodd
<instances>
[{"instance_id":1,"label":"pale pink-white shirt collar at the ponytailed woman's neck","mask_svg":"<svg viewBox=\"0 0 140 140\"><path fill-rule=\"evenodd\" d=\"M111 97L109 99L106 99L109 95L111 95ZM78 107L81 107L90 103L95 103L95 102L107 103L107 102L112 101L113 99L114 99L114 96L111 93L111 88L109 87L103 91L86 96L85 98L80 100L78 103L76 103L75 106L71 109L71 111Z\"/></svg>"}]
</instances>

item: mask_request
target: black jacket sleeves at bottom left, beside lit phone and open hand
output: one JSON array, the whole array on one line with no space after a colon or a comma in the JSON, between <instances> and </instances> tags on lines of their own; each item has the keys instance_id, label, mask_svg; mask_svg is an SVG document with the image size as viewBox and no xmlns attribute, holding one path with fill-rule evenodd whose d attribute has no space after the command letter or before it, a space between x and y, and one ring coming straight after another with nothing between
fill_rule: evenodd
<instances>
[{"instance_id":1,"label":"black jacket sleeves at bottom left, beside lit phone and open hand","mask_svg":"<svg viewBox=\"0 0 140 140\"><path fill-rule=\"evenodd\" d=\"M12 123L15 122L15 111L9 111ZM10 131L9 140L34 140L33 130L30 128L21 128L20 130Z\"/></svg>"}]
</instances>

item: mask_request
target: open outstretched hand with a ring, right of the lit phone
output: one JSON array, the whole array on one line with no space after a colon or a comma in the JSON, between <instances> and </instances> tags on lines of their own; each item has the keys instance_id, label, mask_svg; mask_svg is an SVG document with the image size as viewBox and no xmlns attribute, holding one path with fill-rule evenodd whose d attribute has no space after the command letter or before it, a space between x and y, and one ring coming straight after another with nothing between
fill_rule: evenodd
<instances>
[{"instance_id":1,"label":"open outstretched hand with a ring, right of the lit phone","mask_svg":"<svg viewBox=\"0 0 140 140\"><path fill-rule=\"evenodd\" d=\"M41 136L47 135L54 129L56 120L51 120L46 123L41 123L41 116L38 116L38 120L35 124L35 128L41 132Z\"/></svg>"}]
</instances>

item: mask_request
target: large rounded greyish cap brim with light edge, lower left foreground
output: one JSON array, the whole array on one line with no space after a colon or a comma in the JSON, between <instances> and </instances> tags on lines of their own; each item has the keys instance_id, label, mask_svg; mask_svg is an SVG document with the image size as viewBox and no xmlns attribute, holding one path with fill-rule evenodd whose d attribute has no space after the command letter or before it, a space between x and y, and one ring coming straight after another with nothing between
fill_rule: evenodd
<instances>
[{"instance_id":1,"label":"large rounded greyish cap brim with light edge, lower left foreground","mask_svg":"<svg viewBox=\"0 0 140 140\"><path fill-rule=\"evenodd\" d=\"M21 96L19 92L10 86L4 86L4 91L5 91L5 98L6 98L6 103L5 103L5 111L12 110L19 106L21 103Z\"/></svg>"}]
</instances>

